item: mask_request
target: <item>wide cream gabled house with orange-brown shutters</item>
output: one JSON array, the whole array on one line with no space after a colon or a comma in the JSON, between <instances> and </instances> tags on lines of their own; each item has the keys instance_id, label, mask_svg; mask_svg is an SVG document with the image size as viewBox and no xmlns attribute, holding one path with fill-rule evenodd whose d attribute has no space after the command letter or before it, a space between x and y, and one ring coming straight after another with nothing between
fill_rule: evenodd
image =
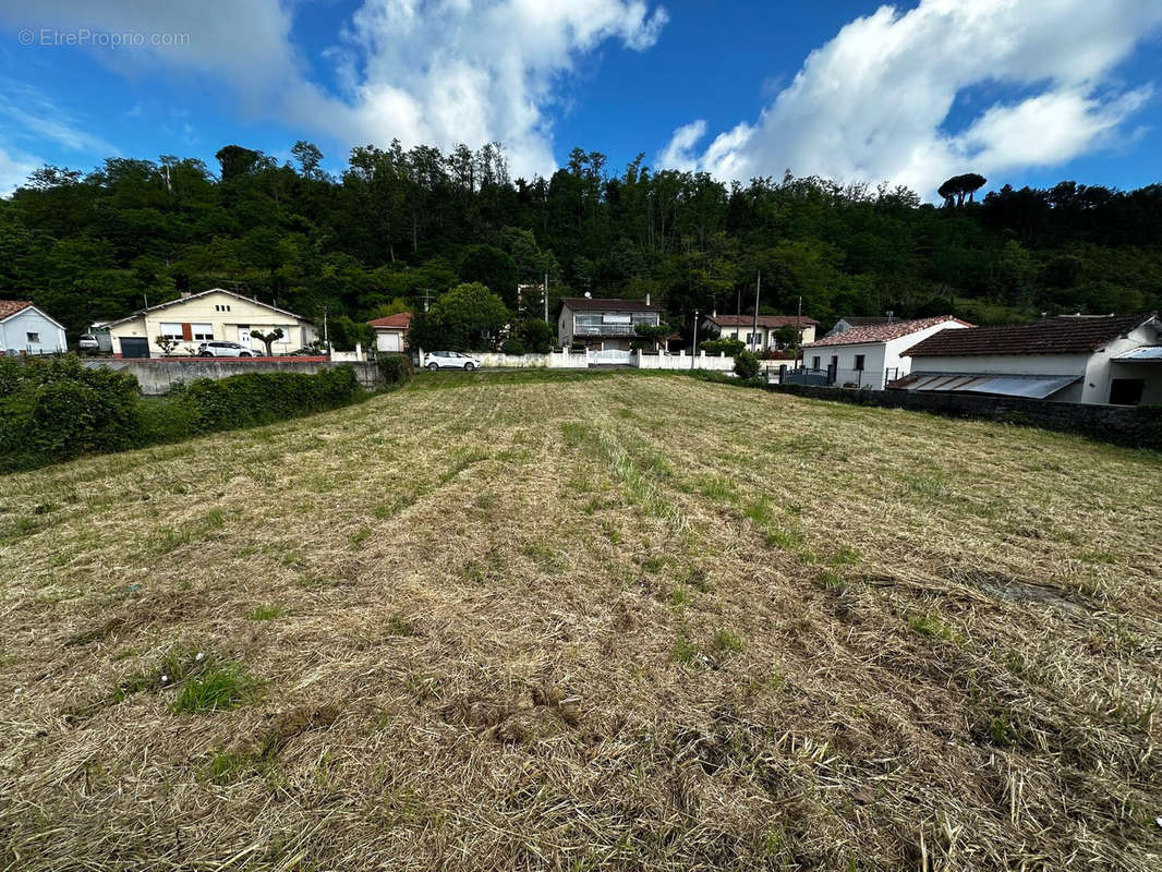
<instances>
[{"instance_id":1,"label":"wide cream gabled house with orange-brown shutters","mask_svg":"<svg viewBox=\"0 0 1162 872\"><path fill-rule=\"evenodd\" d=\"M237 342L265 353L266 344L253 334L268 334L274 328L282 330L271 346L274 355L287 355L315 341L315 324L301 315L220 287L93 324L94 330L108 331L113 352L121 357L160 357L158 336L177 343L174 355L194 353L199 344L210 339Z\"/></svg>"}]
</instances>

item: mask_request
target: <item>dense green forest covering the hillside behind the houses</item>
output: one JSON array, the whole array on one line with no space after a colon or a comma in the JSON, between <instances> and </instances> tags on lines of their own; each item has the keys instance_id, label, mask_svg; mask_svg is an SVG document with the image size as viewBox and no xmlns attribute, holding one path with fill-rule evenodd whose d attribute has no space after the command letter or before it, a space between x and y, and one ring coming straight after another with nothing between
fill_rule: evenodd
<instances>
[{"instance_id":1,"label":"dense green forest covering the hillside behind the houses","mask_svg":"<svg viewBox=\"0 0 1162 872\"><path fill-rule=\"evenodd\" d=\"M551 302L652 293L675 324L696 307L753 310L760 270L761 312L802 296L824 322L891 309L996 323L1162 301L1162 185L1005 186L934 207L819 178L727 185L641 156L615 173L580 149L531 181L510 178L498 144L357 148L339 178L316 146L293 155L280 166L228 145L214 170L173 156L43 167L0 199L0 295L33 299L71 334L214 286L308 317L325 307L339 334L461 281L536 315L539 290L518 300L517 285L546 272Z\"/></svg>"}]
</instances>

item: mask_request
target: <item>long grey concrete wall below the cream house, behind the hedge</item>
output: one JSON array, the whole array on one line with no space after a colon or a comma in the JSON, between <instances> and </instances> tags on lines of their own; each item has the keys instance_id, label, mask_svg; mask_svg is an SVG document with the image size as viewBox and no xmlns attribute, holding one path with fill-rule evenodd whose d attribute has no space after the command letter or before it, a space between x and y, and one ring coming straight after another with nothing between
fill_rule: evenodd
<instances>
[{"instance_id":1,"label":"long grey concrete wall below the cream house, behind the hedge","mask_svg":"<svg viewBox=\"0 0 1162 872\"><path fill-rule=\"evenodd\" d=\"M173 358L96 358L81 362L88 369L106 367L127 372L137 378L141 391L146 396L170 393L175 381L189 384L194 379L224 379L245 372L303 372L314 374L339 366L337 360L325 358L265 357L238 360L228 357L173 357ZM374 387L380 381L374 363L351 363L364 387Z\"/></svg>"}]
</instances>

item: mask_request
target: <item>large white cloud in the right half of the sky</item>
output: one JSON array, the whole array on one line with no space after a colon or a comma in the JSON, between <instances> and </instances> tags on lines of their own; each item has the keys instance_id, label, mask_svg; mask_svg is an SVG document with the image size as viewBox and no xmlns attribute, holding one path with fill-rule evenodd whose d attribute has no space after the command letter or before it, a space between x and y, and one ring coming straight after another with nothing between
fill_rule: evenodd
<instances>
[{"instance_id":1,"label":"large white cloud in the right half of the sky","mask_svg":"<svg viewBox=\"0 0 1162 872\"><path fill-rule=\"evenodd\" d=\"M701 153L688 124L661 156L722 178L789 169L925 194L959 172L1064 163L1114 141L1150 98L1150 86L1119 90L1113 70L1160 26L1156 0L884 6L811 52L753 124L719 134ZM957 97L976 86L1023 97L947 129Z\"/></svg>"}]
</instances>

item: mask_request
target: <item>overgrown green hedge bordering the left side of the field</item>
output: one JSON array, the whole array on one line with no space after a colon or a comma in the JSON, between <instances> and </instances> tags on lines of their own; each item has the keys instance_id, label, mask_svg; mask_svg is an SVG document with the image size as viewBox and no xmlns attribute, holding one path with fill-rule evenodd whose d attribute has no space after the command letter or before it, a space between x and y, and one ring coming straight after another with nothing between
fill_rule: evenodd
<instances>
[{"instance_id":1,"label":"overgrown green hedge bordering the left side of the field","mask_svg":"<svg viewBox=\"0 0 1162 872\"><path fill-rule=\"evenodd\" d=\"M410 365L395 366L410 374ZM350 364L314 376L248 372L198 379L148 399L132 376L85 369L73 356L28 363L0 358L0 472L273 423L345 406L363 393Z\"/></svg>"}]
</instances>

